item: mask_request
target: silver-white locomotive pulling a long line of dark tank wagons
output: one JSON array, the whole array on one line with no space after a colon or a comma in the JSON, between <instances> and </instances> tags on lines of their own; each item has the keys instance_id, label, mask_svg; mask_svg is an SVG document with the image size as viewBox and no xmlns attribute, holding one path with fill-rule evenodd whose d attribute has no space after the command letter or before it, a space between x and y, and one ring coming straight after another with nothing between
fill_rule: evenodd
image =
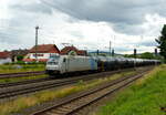
<instances>
[{"instance_id":1,"label":"silver-white locomotive pulling a long line of dark tank wagons","mask_svg":"<svg viewBox=\"0 0 166 115\"><path fill-rule=\"evenodd\" d=\"M46 62L48 74L113 71L159 64L159 60L112 56L55 55Z\"/></svg>"}]
</instances>

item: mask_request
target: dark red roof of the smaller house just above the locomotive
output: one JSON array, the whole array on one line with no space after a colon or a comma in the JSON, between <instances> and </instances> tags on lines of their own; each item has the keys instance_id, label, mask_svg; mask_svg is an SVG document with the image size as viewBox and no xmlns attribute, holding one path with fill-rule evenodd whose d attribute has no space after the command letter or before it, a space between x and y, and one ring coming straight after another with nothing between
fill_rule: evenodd
<instances>
[{"instance_id":1,"label":"dark red roof of the smaller house just above the locomotive","mask_svg":"<svg viewBox=\"0 0 166 115\"><path fill-rule=\"evenodd\" d=\"M65 46L61 50L61 54L69 54L71 51L76 52L77 55L86 55L86 51L79 50L75 46Z\"/></svg>"}]
</instances>

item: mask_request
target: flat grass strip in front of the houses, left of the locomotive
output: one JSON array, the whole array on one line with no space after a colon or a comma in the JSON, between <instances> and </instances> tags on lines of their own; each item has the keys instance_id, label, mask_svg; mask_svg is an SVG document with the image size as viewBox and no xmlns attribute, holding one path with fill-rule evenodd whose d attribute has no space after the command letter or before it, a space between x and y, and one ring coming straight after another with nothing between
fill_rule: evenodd
<instances>
[{"instance_id":1,"label":"flat grass strip in front of the houses, left of the locomotive","mask_svg":"<svg viewBox=\"0 0 166 115\"><path fill-rule=\"evenodd\" d=\"M17 73L17 72L33 72L33 71L44 71L44 64L0 65L0 73Z\"/></svg>"}]
</instances>

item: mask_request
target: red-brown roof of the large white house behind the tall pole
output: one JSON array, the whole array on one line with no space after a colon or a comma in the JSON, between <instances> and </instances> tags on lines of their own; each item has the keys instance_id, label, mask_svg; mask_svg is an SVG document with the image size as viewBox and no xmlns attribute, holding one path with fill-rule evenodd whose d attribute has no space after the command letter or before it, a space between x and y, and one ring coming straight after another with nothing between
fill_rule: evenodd
<instances>
[{"instance_id":1,"label":"red-brown roof of the large white house behind the tall pole","mask_svg":"<svg viewBox=\"0 0 166 115\"><path fill-rule=\"evenodd\" d=\"M55 44L41 44L37 46L38 53L60 53ZM35 45L30 50L30 53L35 53Z\"/></svg>"}]
</instances>

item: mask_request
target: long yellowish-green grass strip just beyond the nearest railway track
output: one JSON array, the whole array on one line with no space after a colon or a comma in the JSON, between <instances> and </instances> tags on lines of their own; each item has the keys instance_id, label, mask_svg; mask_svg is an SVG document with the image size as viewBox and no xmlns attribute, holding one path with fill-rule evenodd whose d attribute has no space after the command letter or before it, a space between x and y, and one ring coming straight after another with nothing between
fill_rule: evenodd
<instances>
[{"instance_id":1,"label":"long yellowish-green grass strip just beyond the nearest railway track","mask_svg":"<svg viewBox=\"0 0 166 115\"><path fill-rule=\"evenodd\" d=\"M75 85L64 87L61 90L42 91L42 92L38 92L33 95L27 96L27 97L19 97L14 101L10 101L4 104L0 104L0 115L9 115L12 113L21 112L23 108L34 106L34 105L41 104L43 102L62 98L68 95L74 94L76 92L80 92L83 90L89 90L89 88L92 88L102 83L113 81L113 80L122 77L124 75L133 75L135 73L136 73L135 71L122 72L118 74L114 74L111 77L98 79L98 80L93 80L93 81L89 81L89 82L80 81Z\"/></svg>"}]
</instances>

